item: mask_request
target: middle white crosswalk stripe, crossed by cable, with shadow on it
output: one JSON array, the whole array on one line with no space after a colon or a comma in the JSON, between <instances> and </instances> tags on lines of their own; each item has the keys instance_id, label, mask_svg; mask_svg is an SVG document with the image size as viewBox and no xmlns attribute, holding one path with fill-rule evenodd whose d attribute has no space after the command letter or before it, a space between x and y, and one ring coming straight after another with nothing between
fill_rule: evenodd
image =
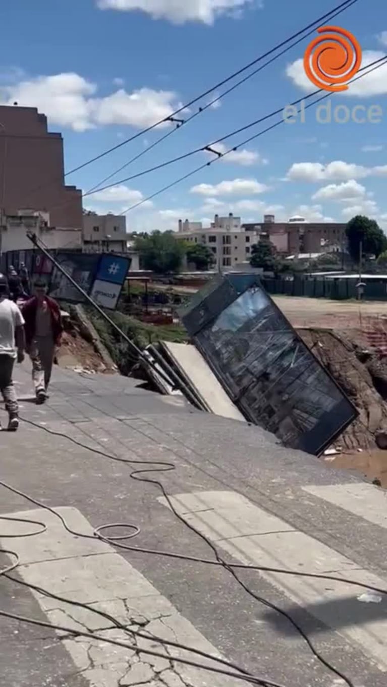
<instances>
[{"instance_id":1,"label":"middle white crosswalk stripe, crossed by cable, with shadow on it","mask_svg":"<svg viewBox=\"0 0 387 687\"><path fill-rule=\"evenodd\" d=\"M308 534L294 530L242 495L226 491L198 492L170 499L186 521L241 563L334 574L387 588L387 581L368 570L361 570L351 559ZM160 497L159 502L169 508L164 497ZM327 627L360 644L364 653L376 660L381 670L387 671L385 599L378 605L363 603L359 598L364 589L345 582L260 574Z\"/></svg>"}]
</instances>

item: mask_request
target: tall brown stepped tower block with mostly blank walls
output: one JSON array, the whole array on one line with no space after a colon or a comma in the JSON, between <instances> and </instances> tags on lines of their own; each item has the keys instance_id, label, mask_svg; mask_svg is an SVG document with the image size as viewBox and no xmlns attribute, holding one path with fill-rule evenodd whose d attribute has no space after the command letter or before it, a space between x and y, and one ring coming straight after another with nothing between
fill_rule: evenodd
<instances>
[{"instance_id":1,"label":"tall brown stepped tower block with mostly blank walls","mask_svg":"<svg viewBox=\"0 0 387 687\"><path fill-rule=\"evenodd\" d=\"M0 209L47 212L53 227L82 227L82 193L65 185L63 138L34 107L0 106Z\"/></svg>"}]
</instances>

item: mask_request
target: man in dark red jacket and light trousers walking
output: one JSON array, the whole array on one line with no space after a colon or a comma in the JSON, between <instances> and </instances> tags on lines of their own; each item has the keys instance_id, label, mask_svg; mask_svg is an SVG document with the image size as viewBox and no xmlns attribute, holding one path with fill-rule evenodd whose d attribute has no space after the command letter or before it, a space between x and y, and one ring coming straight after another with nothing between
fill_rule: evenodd
<instances>
[{"instance_id":1,"label":"man in dark red jacket and light trousers walking","mask_svg":"<svg viewBox=\"0 0 387 687\"><path fill-rule=\"evenodd\" d=\"M38 280L34 286L36 295L23 304L22 312L26 349L32 361L36 403L45 403L63 324L58 303L46 295L45 282Z\"/></svg>"}]
</instances>

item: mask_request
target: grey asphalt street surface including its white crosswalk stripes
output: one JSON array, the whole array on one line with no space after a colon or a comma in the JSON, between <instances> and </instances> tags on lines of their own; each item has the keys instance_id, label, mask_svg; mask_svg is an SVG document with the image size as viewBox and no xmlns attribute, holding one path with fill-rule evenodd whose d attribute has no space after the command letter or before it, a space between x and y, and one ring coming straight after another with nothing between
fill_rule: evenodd
<instances>
[{"instance_id":1,"label":"grey asphalt street surface including its white crosswalk stripes","mask_svg":"<svg viewBox=\"0 0 387 687\"><path fill-rule=\"evenodd\" d=\"M313 656L305 638L276 612L278 606L353 684L384 687L386 596L344 581L387 589L384 491L311 455L284 449L258 427L198 412L179 396L158 396L138 384L121 376L82 376L56 368L52 397L47 405L36 406L29 365L16 370L24 421L19 433L1 434L1 480L34 503L1 486L1 512L43 521L47 531L1 539L2 548L20 557L17 575L11 574L14 581L1 577L1 611L43 622L38 627L0 615L6 646L3 683L245 684L170 662L171 655L198 663L206 659L173 646L164 649L157 640L144 638L151 632L210 653L210 666L235 673L235 665L215 663L220 652L272 684L344 684ZM153 471L134 475L141 468L135 461L153 462ZM155 461L175 469L163 473L158 465L157 472ZM144 481L135 481L139 477ZM158 482L188 526L166 507ZM38 502L54 512L39 508ZM55 513L78 536L65 530ZM135 539L118 542L129 550L84 538L114 522L140 528ZM36 525L1 521L5 534L31 530ZM104 534L133 531L131 526ZM214 565L208 542L234 564L296 570L298 576L235 571L254 594L274 605L269 607L252 598L229 570ZM0 554L1 569L7 561ZM343 581L299 576L332 571ZM98 616L96 609L109 616ZM67 628L65 634L52 629L54 624ZM122 624L142 631L142 638L126 633ZM74 636L74 631L98 638ZM137 642L137 649L111 646L107 640Z\"/></svg>"}]
</instances>

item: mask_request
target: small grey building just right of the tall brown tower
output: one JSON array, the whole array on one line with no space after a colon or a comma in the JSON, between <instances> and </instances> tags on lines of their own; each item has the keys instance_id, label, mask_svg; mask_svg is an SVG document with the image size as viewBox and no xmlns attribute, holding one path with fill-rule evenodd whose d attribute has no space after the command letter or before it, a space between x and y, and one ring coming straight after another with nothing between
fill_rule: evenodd
<instances>
[{"instance_id":1,"label":"small grey building just right of the tall brown tower","mask_svg":"<svg viewBox=\"0 0 387 687\"><path fill-rule=\"evenodd\" d=\"M126 217L122 215L98 215L86 212L83 215L83 248L93 253L126 253L128 234Z\"/></svg>"}]
</instances>

